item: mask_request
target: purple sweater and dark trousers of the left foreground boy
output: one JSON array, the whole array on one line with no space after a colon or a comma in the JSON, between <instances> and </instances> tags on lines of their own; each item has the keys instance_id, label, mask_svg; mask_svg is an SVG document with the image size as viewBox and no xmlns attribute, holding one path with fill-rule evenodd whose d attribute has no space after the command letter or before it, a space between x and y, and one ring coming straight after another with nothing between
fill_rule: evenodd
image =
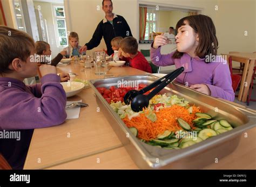
<instances>
[{"instance_id":1,"label":"purple sweater and dark trousers of the left foreground boy","mask_svg":"<svg viewBox=\"0 0 256 187\"><path fill-rule=\"evenodd\" d=\"M66 119L66 94L60 77L48 74L41 83L26 86L14 78L0 77L0 131L21 132L16 139L0 139L0 153L12 168L22 169L34 128L62 124Z\"/></svg>"}]
</instances>

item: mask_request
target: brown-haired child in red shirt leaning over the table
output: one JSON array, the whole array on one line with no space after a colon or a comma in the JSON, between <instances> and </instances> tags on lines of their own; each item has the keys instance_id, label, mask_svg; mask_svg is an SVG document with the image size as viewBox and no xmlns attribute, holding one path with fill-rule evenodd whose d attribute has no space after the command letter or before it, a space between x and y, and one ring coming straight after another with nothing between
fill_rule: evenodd
<instances>
[{"instance_id":1,"label":"brown-haired child in red shirt leaning over the table","mask_svg":"<svg viewBox=\"0 0 256 187\"><path fill-rule=\"evenodd\" d=\"M133 37L126 37L120 41L120 53L124 57L130 58L130 66L132 68L152 73L149 62L145 59L142 53L138 51L138 42Z\"/></svg>"}]
</instances>

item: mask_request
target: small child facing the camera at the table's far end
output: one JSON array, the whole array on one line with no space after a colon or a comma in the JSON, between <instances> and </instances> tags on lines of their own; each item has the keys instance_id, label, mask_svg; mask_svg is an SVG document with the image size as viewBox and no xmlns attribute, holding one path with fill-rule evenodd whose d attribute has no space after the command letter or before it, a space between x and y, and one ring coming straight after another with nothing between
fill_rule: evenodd
<instances>
[{"instance_id":1,"label":"small child facing the camera at the table's far end","mask_svg":"<svg viewBox=\"0 0 256 187\"><path fill-rule=\"evenodd\" d=\"M76 32L71 32L69 34L69 46L65 47L63 50L68 52L66 57L79 56L80 54L85 55L85 52L79 53L80 47L78 34Z\"/></svg>"}]
</instances>

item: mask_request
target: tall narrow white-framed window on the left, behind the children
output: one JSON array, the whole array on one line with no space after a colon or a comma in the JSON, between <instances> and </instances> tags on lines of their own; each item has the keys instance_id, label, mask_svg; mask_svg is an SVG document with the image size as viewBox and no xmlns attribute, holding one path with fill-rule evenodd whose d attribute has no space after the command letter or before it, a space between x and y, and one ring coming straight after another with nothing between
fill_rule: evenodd
<instances>
[{"instance_id":1,"label":"tall narrow white-framed window on the left, behind the children","mask_svg":"<svg viewBox=\"0 0 256 187\"><path fill-rule=\"evenodd\" d=\"M58 47L68 46L64 6L53 6Z\"/></svg>"}]
</instances>

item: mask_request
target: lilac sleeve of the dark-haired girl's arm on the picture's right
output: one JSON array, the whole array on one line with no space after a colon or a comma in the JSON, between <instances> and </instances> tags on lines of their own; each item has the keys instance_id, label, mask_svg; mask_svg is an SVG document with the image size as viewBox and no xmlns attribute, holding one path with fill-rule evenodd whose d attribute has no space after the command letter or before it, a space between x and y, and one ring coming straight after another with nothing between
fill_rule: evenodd
<instances>
[{"instance_id":1,"label":"lilac sleeve of the dark-haired girl's arm on the picture's right","mask_svg":"<svg viewBox=\"0 0 256 187\"><path fill-rule=\"evenodd\" d=\"M220 97L233 102L235 94L227 64L220 63L220 66L213 71L213 84L206 85L210 89L212 97Z\"/></svg>"}]
</instances>

